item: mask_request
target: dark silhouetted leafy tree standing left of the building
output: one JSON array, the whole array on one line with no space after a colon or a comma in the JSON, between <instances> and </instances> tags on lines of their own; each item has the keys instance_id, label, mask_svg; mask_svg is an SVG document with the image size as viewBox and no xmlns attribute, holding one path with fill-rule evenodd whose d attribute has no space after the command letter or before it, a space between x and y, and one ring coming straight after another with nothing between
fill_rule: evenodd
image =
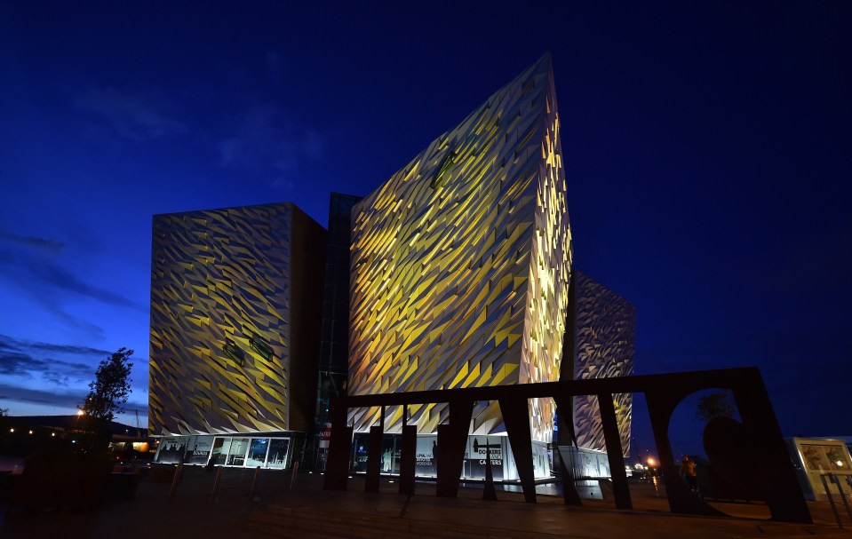
<instances>
[{"instance_id":1,"label":"dark silhouetted leafy tree standing left of the building","mask_svg":"<svg viewBox=\"0 0 852 539\"><path fill-rule=\"evenodd\" d=\"M115 413L122 413L123 405L131 393L132 350L119 348L106 360L100 361L95 379L89 384L89 395L80 410L84 416L99 421L112 421Z\"/></svg>"}]
</instances>

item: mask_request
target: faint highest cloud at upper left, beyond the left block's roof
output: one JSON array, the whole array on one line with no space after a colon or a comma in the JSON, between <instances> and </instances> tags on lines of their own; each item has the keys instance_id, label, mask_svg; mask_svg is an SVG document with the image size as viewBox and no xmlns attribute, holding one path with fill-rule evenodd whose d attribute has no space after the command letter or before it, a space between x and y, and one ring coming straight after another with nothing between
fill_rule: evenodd
<instances>
[{"instance_id":1,"label":"faint highest cloud at upper left, beyond the left block's roof","mask_svg":"<svg viewBox=\"0 0 852 539\"><path fill-rule=\"evenodd\" d=\"M187 133L187 124L167 115L164 112L169 108L166 100L157 98L156 94L156 91L149 91L143 95L114 86L92 87L78 95L73 105L77 110L100 118L121 137L134 142Z\"/></svg>"}]
</instances>

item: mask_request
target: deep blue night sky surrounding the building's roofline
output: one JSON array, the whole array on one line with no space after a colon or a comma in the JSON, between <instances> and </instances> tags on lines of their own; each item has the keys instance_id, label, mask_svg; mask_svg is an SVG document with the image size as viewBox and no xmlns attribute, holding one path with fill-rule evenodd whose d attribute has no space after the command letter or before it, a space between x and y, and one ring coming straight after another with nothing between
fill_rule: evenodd
<instances>
[{"instance_id":1,"label":"deep blue night sky surrounding the building's roofline","mask_svg":"<svg viewBox=\"0 0 852 539\"><path fill-rule=\"evenodd\" d=\"M756 365L785 435L852 434L852 4L307 4L0 1L0 408L73 413L127 346L146 415L153 214L325 225L549 51L636 372Z\"/></svg>"}]
</instances>

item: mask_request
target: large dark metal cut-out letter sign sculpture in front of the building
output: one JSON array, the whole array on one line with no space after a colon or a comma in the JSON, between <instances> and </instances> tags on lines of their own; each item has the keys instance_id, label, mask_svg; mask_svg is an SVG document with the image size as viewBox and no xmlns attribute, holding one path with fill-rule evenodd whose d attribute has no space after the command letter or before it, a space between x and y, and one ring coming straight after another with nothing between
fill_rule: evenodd
<instances>
[{"instance_id":1,"label":"large dark metal cut-out letter sign sculpture in front of the building","mask_svg":"<svg viewBox=\"0 0 852 539\"><path fill-rule=\"evenodd\" d=\"M657 442L657 452L671 511L683 514L718 515L721 513L690 492L680 479L668 438L668 426L674 408L690 393L707 388L729 389L734 395L743 425L752 433L753 448L760 451L761 465L756 480L760 484L761 494L766 500L772 519L812 522L792 463L784 448L784 438L766 387L756 368L346 397L336 400L332 410L330 457L325 476L325 488L346 490L348 451L352 439L352 428L346 426L346 417L350 408L400 406L403 408L404 416L407 413L406 408L411 405L447 403L450 409L448 421L438 425L437 495L455 497L458 495L464 446L474 404L482 400L498 400L506 424L506 435L515 455L515 464L518 467L524 497L527 502L535 503L527 400L551 397L559 409L560 406L569 406L568 403L573 396L597 395L601 403L601 422L608 449L616 506L619 509L631 509L633 504L627 486L621 436L618 432L612 402L613 395L617 393L643 392L648 402L651 426ZM374 436L380 437L381 432L371 430L370 440ZM410 441L407 445L403 444L403 460L406 458L404 452L410 451L413 447L414 444ZM401 478L402 483L413 484L413 466L404 468L402 472L405 474ZM564 480L567 481L569 478L566 477ZM368 482L374 484L376 481L378 481L378 467L368 466ZM568 487L569 485L566 485L566 488ZM568 496L566 496L566 502L569 502Z\"/></svg>"}]
</instances>

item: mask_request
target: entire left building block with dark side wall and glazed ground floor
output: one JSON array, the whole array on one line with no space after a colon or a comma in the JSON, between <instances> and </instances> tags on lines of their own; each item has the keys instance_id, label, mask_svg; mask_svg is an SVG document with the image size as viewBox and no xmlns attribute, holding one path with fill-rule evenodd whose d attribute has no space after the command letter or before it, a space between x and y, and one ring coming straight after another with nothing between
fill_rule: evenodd
<instances>
[{"instance_id":1,"label":"entire left building block with dark side wall and glazed ground floor","mask_svg":"<svg viewBox=\"0 0 852 539\"><path fill-rule=\"evenodd\" d=\"M155 216L148 416L164 455L260 465L312 429L324 248L290 202Z\"/></svg>"}]
</instances>

